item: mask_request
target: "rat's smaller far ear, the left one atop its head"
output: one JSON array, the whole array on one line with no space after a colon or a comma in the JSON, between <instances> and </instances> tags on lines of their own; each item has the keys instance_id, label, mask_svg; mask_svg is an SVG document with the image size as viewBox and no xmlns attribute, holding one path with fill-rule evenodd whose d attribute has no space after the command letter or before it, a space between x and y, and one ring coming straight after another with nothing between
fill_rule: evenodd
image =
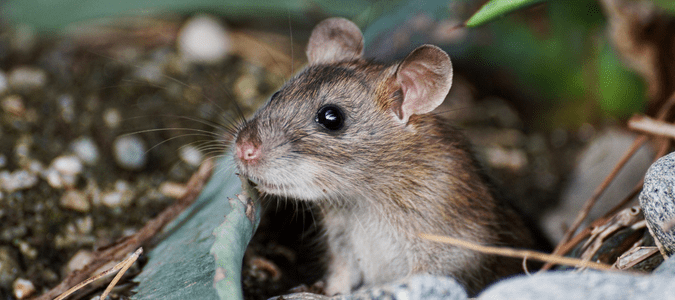
<instances>
[{"instance_id":1,"label":"rat's smaller far ear, the left one atop its head","mask_svg":"<svg viewBox=\"0 0 675 300\"><path fill-rule=\"evenodd\" d=\"M352 21L330 18L314 27L307 44L310 65L354 60L363 55L363 35Z\"/></svg>"}]
</instances>

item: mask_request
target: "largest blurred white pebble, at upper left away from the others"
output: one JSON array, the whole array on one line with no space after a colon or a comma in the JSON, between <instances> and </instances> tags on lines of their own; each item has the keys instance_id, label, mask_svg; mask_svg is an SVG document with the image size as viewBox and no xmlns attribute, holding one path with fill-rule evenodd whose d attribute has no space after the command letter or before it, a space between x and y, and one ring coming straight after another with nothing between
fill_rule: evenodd
<instances>
[{"instance_id":1,"label":"largest blurred white pebble, at upper left away from the others","mask_svg":"<svg viewBox=\"0 0 675 300\"><path fill-rule=\"evenodd\" d=\"M188 20L178 34L177 44L185 60L197 63L218 63L232 48L225 27L206 15Z\"/></svg>"}]
</instances>

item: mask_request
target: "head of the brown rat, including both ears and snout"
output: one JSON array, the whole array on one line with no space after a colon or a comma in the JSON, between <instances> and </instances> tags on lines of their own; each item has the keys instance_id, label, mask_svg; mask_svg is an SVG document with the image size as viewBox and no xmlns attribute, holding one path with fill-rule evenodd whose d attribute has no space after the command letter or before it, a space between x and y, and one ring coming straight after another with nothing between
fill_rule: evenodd
<instances>
[{"instance_id":1,"label":"head of the brown rat, including both ears and snout","mask_svg":"<svg viewBox=\"0 0 675 300\"><path fill-rule=\"evenodd\" d=\"M307 46L309 66L240 126L235 162L262 192L301 200L366 193L414 157L423 115L450 89L450 58L430 45L394 65L362 53L354 23L321 22Z\"/></svg>"}]
</instances>

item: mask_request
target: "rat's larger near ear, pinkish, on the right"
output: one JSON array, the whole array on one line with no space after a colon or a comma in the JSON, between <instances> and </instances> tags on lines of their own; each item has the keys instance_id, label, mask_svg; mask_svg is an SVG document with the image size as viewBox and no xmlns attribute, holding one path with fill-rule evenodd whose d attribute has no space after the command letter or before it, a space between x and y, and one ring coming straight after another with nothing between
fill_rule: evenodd
<instances>
[{"instance_id":1,"label":"rat's larger near ear, pinkish, on the right","mask_svg":"<svg viewBox=\"0 0 675 300\"><path fill-rule=\"evenodd\" d=\"M420 46L398 66L396 82L403 101L394 111L407 123L410 116L431 112L443 103L452 85L450 57L436 46Z\"/></svg>"}]
</instances>

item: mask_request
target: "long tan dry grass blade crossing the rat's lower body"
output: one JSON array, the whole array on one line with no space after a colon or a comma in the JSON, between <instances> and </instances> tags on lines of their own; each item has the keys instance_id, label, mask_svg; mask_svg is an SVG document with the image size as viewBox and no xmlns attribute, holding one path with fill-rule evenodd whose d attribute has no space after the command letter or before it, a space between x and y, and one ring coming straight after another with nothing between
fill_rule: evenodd
<instances>
[{"instance_id":1,"label":"long tan dry grass blade crossing the rat's lower body","mask_svg":"<svg viewBox=\"0 0 675 300\"><path fill-rule=\"evenodd\" d=\"M440 236L440 235L432 235L432 234L421 234L420 235L422 238L439 242L439 243L446 243L446 244L451 244L454 246L459 246L463 248L467 248L470 250L478 251L481 253L486 253L486 254L494 254L494 255L501 255L501 256L506 256L506 257L514 257L514 258L527 258L527 259L534 259L538 260L541 262L550 262L552 264L558 264L558 265L567 265L567 266L574 266L578 268L589 268L589 269L595 269L595 270L602 270L602 271L617 271L616 269L613 269L609 265L601 264L601 263L596 263L592 261L585 261L581 259L576 259L576 258L570 258L570 257L564 257L564 256L559 256L559 255L552 255L552 254L546 254L542 252L537 252L537 251L532 251L532 250L520 250L520 249L513 249L513 248L508 248L508 247L494 247L494 246L483 246L483 245L478 245L472 242L464 241L461 239L456 239L448 236Z\"/></svg>"}]
</instances>

